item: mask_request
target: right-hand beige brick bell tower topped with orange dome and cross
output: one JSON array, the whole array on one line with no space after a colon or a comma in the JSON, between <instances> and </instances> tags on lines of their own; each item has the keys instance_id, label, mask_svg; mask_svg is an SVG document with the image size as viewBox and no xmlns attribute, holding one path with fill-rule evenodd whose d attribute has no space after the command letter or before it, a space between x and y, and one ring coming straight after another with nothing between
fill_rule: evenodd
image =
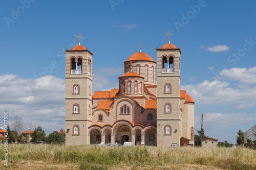
<instances>
[{"instance_id":1,"label":"right-hand beige brick bell tower topped with orange dome and cross","mask_svg":"<svg viewBox=\"0 0 256 170\"><path fill-rule=\"evenodd\" d=\"M172 35L166 34L168 36ZM180 48L164 44L157 48L157 145L164 146L181 138Z\"/></svg>"}]
</instances>

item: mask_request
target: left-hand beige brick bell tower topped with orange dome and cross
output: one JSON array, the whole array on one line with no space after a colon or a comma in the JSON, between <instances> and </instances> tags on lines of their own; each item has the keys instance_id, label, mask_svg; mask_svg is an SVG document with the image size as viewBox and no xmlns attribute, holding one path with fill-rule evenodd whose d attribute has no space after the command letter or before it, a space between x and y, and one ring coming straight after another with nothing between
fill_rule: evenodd
<instances>
[{"instance_id":1,"label":"left-hand beige brick bell tower topped with orange dome and cross","mask_svg":"<svg viewBox=\"0 0 256 170\"><path fill-rule=\"evenodd\" d=\"M66 50L66 144L89 144L92 117L92 56L79 43Z\"/></svg>"}]
</instances>

